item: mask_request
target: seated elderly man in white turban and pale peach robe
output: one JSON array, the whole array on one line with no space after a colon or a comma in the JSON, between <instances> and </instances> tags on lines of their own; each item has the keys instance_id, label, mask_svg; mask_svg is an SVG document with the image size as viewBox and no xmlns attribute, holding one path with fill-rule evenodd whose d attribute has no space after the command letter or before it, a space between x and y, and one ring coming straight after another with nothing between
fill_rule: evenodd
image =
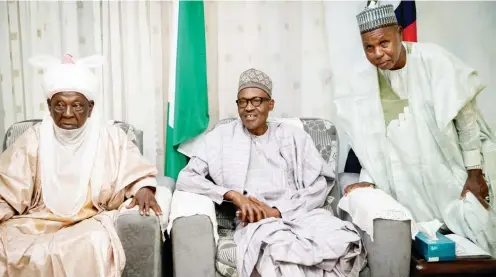
<instances>
[{"instance_id":1,"label":"seated elderly man in white turban and pale peach robe","mask_svg":"<svg viewBox=\"0 0 496 277\"><path fill-rule=\"evenodd\" d=\"M121 276L125 256L114 215L129 208L156 215L156 168L117 126L94 116L101 56L45 69L50 114L0 156L0 277Z\"/></svg>"}]
</instances>

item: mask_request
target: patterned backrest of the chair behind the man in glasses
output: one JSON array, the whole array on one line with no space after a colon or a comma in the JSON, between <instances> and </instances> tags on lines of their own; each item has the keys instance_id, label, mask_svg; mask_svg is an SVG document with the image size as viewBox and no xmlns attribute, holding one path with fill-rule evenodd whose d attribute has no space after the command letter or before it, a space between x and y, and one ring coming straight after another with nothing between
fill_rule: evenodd
<instances>
[{"instance_id":1,"label":"patterned backrest of the chair behind the man in glasses","mask_svg":"<svg viewBox=\"0 0 496 277\"><path fill-rule=\"evenodd\" d=\"M213 128L232 122L236 118L226 118L217 122ZM338 132L334 124L325 119L319 118L300 118L303 123L303 129L307 132L315 143L315 147L332 168L334 168L334 173L336 174L335 180L330 185L333 185L329 196L332 196L333 201L330 203L332 206L332 211L335 215L338 215L337 204L341 198L339 186L337 183L338 178L338 150L339 150L339 137ZM212 129L213 129L212 128Z\"/></svg>"}]
</instances>

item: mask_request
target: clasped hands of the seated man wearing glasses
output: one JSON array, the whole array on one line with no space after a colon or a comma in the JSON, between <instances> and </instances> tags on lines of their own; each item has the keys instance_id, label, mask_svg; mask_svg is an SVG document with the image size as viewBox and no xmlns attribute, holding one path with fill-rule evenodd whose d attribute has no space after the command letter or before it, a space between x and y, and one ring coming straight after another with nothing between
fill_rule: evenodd
<instances>
[{"instance_id":1,"label":"clasped hands of the seated man wearing glasses","mask_svg":"<svg viewBox=\"0 0 496 277\"><path fill-rule=\"evenodd\" d=\"M248 223L260 221L267 217L267 214L263 208L237 191L229 191L224 195L224 198L226 200L231 200L238 208L243 226L246 226Z\"/></svg>"}]
</instances>

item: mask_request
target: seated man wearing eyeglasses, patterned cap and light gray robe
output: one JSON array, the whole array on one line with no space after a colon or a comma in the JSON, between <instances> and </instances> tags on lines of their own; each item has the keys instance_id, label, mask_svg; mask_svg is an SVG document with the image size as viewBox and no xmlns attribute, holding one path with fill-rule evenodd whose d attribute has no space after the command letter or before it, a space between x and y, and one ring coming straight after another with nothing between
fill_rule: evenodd
<instances>
[{"instance_id":1,"label":"seated man wearing eyeglasses, patterned cap and light gray robe","mask_svg":"<svg viewBox=\"0 0 496 277\"><path fill-rule=\"evenodd\" d=\"M275 105L269 76L248 69L237 93L239 120L206 134L177 189L234 204L240 277L358 276L359 234L321 208L334 172L304 130L267 122Z\"/></svg>"}]
</instances>

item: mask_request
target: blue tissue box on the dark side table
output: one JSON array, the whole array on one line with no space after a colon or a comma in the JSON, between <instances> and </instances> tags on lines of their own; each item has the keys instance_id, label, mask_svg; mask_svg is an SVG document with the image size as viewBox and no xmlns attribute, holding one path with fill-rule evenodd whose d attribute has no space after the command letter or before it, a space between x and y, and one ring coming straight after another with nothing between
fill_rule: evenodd
<instances>
[{"instance_id":1,"label":"blue tissue box on the dark side table","mask_svg":"<svg viewBox=\"0 0 496 277\"><path fill-rule=\"evenodd\" d=\"M415 236L413 246L427 262L452 261L456 259L455 242L441 233L436 233L437 240L429 239L424 233Z\"/></svg>"}]
</instances>

